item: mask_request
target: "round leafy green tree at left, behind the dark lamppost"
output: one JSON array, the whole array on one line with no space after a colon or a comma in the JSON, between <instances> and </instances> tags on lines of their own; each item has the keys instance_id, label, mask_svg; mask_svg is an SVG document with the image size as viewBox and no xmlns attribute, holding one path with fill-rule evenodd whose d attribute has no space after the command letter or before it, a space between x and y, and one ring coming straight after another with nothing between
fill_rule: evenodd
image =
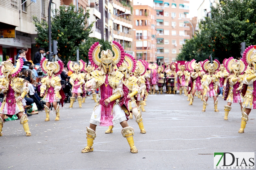
<instances>
[{"instance_id":1,"label":"round leafy green tree at left, behind the dark lamppost","mask_svg":"<svg viewBox=\"0 0 256 170\"><path fill-rule=\"evenodd\" d=\"M79 8L77 12L74 5L60 6L56 15L52 17L52 40L58 41L59 58L67 63L69 60L76 61L76 49L89 38L93 23L88 24L89 11ZM36 47L48 49L48 24L40 22L33 17L38 37ZM83 57L81 58L85 60Z\"/></svg>"}]
</instances>

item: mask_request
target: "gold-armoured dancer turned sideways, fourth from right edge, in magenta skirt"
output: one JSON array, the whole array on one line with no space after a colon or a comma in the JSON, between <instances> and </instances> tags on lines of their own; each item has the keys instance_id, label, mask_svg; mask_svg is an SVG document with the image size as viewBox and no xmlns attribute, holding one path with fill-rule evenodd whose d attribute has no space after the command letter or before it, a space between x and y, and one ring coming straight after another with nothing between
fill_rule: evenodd
<instances>
[{"instance_id":1,"label":"gold-armoured dancer turned sideways, fourth from right edge, in magenta skirt","mask_svg":"<svg viewBox=\"0 0 256 170\"><path fill-rule=\"evenodd\" d=\"M201 84L201 79L203 78L205 72L201 71L201 64L200 62L196 63L195 59L191 60L188 67L191 70L191 89L189 91L190 103L188 105L192 105L196 90L200 91L201 94L204 94L204 88Z\"/></svg>"}]
</instances>

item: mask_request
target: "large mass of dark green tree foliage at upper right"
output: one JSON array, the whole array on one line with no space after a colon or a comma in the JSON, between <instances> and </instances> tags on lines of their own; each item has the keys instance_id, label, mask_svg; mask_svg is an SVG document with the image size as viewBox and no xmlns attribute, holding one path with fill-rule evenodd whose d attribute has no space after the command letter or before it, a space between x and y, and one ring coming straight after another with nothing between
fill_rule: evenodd
<instances>
[{"instance_id":1,"label":"large mass of dark green tree foliage at upper right","mask_svg":"<svg viewBox=\"0 0 256 170\"><path fill-rule=\"evenodd\" d=\"M212 8L212 18L200 23L200 32L183 45L177 60L203 61L212 53L222 61L240 57L240 43L256 44L256 3L253 0L223 0Z\"/></svg>"}]
</instances>

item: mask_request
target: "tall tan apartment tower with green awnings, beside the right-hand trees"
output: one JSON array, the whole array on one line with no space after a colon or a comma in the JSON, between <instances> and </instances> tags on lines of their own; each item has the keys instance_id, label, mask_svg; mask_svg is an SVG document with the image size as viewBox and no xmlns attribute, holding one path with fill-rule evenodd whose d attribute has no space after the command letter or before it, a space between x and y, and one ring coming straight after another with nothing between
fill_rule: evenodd
<instances>
[{"instance_id":1,"label":"tall tan apartment tower with green awnings, beside the right-hand trees","mask_svg":"<svg viewBox=\"0 0 256 170\"><path fill-rule=\"evenodd\" d=\"M154 0L156 10L156 55L158 62L174 62L182 44L190 39L188 0Z\"/></svg>"}]
</instances>

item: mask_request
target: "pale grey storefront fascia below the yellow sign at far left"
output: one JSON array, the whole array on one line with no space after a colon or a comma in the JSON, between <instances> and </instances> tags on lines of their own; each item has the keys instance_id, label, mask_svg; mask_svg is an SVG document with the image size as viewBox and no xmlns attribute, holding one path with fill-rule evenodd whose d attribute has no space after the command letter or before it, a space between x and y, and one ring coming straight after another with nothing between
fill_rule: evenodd
<instances>
[{"instance_id":1,"label":"pale grey storefront fascia below the yellow sign at far left","mask_svg":"<svg viewBox=\"0 0 256 170\"><path fill-rule=\"evenodd\" d=\"M31 38L19 35L16 35L16 38L0 38L0 45L31 48Z\"/></svg>"}]
</instances>

